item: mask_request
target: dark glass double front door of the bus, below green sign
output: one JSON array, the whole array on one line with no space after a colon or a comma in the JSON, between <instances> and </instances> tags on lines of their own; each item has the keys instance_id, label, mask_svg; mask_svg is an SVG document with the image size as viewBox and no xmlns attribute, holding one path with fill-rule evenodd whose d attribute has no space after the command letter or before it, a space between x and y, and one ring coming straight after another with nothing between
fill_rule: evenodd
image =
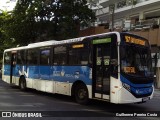
<instances>
[{"instance_id":1,"label":"dark glass double front door of the bus, below green sign","mask_svg":"<svg viewBox=\"0 0 160 120\"><path fill-rule=\"evenodd\" d=\"M93 97L109 100L110 43L96 44L93 49Z\"/></svg>"}]
</instances>

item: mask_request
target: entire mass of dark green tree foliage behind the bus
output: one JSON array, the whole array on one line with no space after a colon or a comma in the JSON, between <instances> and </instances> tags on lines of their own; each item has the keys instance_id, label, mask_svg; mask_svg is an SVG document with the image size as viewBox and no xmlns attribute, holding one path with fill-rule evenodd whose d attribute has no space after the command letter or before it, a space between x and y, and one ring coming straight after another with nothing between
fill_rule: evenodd
<instances>
[{"instance_id":1,"label":"entire mass of dark green tree foliage behind the bus","mask_svg":"<svg viewBox=\"0 0 160 120\"><path fill-rule=\"evenodd\" d=\"M2 41L14 47L78 37L80 25L87 26L95 20L86 3L86 0L18 0L11 14L2 15L5 22L0 26L0 30L3 28L0 35L5 36Z\"/></svg>"}]
</instances>

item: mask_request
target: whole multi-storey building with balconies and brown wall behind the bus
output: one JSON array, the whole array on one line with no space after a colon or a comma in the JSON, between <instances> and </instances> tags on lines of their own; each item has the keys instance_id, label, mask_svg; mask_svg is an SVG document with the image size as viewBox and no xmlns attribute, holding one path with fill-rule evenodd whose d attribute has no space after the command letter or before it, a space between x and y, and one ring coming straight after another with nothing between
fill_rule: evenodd
<instances>
[{"instance_id":1,"label":"whole multi-storey building with balconies and brown wall behind the bus","mask_svg":"<svg viewBox=\"0 0 160 120\"><path fill-rule=\"evenodd\" d=\"M151 43L155 83L160 88L160 0L88 0L88 4L97 20L80 36L114 30L147 38Z\"/></svg>"}]
</instances>

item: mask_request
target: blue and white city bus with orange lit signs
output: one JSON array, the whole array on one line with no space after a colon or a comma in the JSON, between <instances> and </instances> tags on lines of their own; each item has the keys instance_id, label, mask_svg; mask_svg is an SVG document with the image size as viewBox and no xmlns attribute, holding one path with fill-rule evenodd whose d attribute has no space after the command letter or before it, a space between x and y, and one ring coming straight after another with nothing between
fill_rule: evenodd
<instances>
[{"instance_id":1,"label":"blue and white city bus with orange lit signs","mask_svg":"<svg viewBox=\"0 0 160 120\"><path fill-rule=\"evenodd\" d=\"M149 41L127 32L6 49L2 67L8 84L74 96L80 104L142 103L154 93Z\"/></svg>"}]
</instances>

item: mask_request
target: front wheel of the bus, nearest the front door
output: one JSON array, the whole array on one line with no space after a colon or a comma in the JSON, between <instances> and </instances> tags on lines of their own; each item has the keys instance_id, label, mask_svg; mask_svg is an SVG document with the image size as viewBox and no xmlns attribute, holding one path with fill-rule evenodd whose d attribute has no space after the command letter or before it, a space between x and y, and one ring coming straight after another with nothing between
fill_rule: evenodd
<instances>
[{"instance_id":1,"label":"front wheel of the bus, nearest the front door","mask_svg":"<svg viewBox=\"0 0 160 120\"><path fill-rule=\"evenodd\" d=\"M75 99L79 104L86 105L89 101L88 90L85 84L78 84L75 88Z\"/></svg>"}]
</instances>

